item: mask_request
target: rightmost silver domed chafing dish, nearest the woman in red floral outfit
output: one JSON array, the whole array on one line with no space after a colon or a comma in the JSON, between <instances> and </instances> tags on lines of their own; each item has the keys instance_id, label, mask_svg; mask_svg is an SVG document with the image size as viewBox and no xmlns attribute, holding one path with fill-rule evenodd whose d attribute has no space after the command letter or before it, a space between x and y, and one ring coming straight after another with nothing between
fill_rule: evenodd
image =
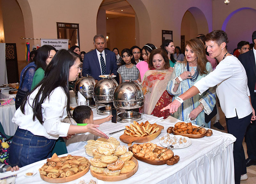
<instances>
[{"instance_id":1,"label":"rightmost silver domed chafing dish, nearest the woman in red floral outfit","mask_svg":"<svg viewBox=\"0 0 256 184\"><path fill-rule=\"evenodd\" d=\"M141 114L134 112L144 104L144 96L140 85L130 80L117 86L113 94L113 104L116 109L124 109L118 114L117 121L133 122L141 120Z\"/></svg>"}]
</instances>

